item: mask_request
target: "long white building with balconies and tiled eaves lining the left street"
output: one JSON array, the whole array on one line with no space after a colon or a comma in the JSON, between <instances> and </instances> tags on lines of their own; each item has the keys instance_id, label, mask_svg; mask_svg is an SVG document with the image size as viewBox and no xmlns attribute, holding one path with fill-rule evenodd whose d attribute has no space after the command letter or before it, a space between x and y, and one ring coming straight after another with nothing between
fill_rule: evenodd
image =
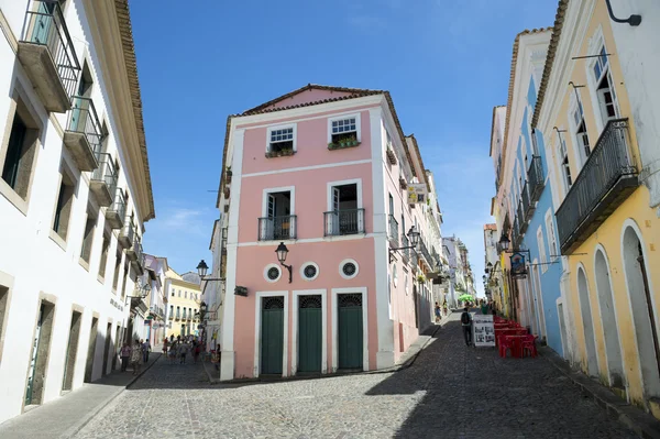
<instances>
[{"instance_id":1,"label":"long white building with balconies and tiled eaves lining the left street","mask_svg":"<svg viewBox=\"0 0 660 439\"><path fill-rule=\"evenodd\" d=\"M0 421L117 365L154 202L125 0L0 0Z\"/></svg>"}]
</instances>

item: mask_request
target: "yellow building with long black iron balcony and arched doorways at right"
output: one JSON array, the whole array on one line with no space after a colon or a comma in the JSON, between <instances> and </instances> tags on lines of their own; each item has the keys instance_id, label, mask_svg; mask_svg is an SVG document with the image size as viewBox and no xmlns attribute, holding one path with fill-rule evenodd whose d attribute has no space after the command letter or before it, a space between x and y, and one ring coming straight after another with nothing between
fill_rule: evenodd
<instances>
[{"instance_id":1,"label":"yellow building with long black iron balcony and arched doorways at right","mask_svg":"<svg viewBox=\"0 0 660 439\"><path fill-rule=\"evenodd\" d=\"M648 153L638 144L640 106L628 94L635 66L623 69L618 56L631 47L615 39L613 26L635 32L614 22L604 1L559 2L531 127L543 133L566 256L562 296L571 333L564 342L585 373L660 417L653 403L660 398L660 290L653 288L660 220L640 183ZM645 56L635 61L639 69ZM659 145L647 138L641 147Z\"/></svg>"}]
</instances>

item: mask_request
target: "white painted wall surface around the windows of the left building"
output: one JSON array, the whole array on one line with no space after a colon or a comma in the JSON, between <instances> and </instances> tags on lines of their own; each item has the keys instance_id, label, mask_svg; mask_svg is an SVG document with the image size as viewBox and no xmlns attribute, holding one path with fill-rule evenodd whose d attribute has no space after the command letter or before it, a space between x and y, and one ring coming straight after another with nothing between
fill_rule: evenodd
<instances>
[{"instance_id":1,"label":"white painted wall surface around the windows of the left building","mask_svg":"<svg viewBox=\"0 0 660 439\"><path fill-rule=\"evenodd\" d=\"M6 33L13 33L19 40L23 25L26 2L1 0L0 9L10 24L3 29ZM75 42L77 55L81 61L88 54L91 61L90 69L95 80L92 99L99 117L107 118L108 129L111 131L109 151L119 150L122 169L127 168L123 145L118 145L112 132L112 114L106 107L106 85L97 75L95 65L97 51L88 37L88 23L81 7L77 1L68 1L65 9L68 30ZM11 36L9 37L11 39ZM10 110L12 91L20 87L23 97L33 107L35 118L42 123L42 144L36 156L36 166L32 187L30 190L30 205L26 215L23 215L8 199L0 196L0 279L13 278L11 301L6 316L7 328L2 337L2 360L0 363L0 422L20 415L23 409L25 384L32 350L34 327L38 314L40 294L54 298L55 317L51 341L50 356L46 366L43 403L61 396L65 355L68 345L72 306L75 304L82 308L82 320L78 353L75 362L73 389L82 385L87 360L87 348L90 333L92 312L98 314L97 349L94 363L92 381L101 376L103 348L107 325L112 321L111 336L114 339L117 326L127 327L129 305L111 304L121 301L121 285L124 282L123 273L120 274L118 293L112 293L112 277L114 270L114 254L117 249L118 230L113 231L111 245L108 253L108 265L105 283L97 279L100 263L100 249L105 227L105 208L98 217L94 233L94 243L89 272L78 263L85 218L88 204L89 173L80 174L63 146L62 138L48 114L33 92L33 87L28 80L22 66L10 45L6 34L0 36L0 135L4 135L6 124ZM54 119L65 127L67 114L52 114ZM121 147L120 147L121 146ZM68 238L66 248L61 248L50 238L53 212L58 189L61 161L64 161L77 178L76 195L73 202ZM120 174L119 185L128 187L130 202L128 212L135 211L132 204L133 191L131 182L125 174ZM136 215L141 218L142 215ZM142 223L139 221L140 231ZM125 256L124 256L125 257ZM123 266L123 263L122 263ZM132 271L131 271L132 272ZM127 295L133 290L133 281L128 281ZM108 367L112 364L112 356L108 359Z\"/></svg>"}]
</instances>

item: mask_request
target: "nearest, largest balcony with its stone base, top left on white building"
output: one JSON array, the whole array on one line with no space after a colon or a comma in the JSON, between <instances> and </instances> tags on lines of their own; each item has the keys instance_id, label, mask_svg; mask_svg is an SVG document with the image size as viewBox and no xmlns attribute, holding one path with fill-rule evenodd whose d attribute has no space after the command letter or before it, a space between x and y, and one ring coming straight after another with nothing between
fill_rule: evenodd
<instances>
[{"instance_id":1,"label":"nearest, largest balcony with its stone base, top left on white building","mask_svg":"<svg viewBox=\"0 0 660 439\"><path fill-rule=\"evenodd\" d=\"M80 73L72 37L58 1L33 0L28 8L16 55L46 110L64 113Z\"/></svg>"}]
</instances>

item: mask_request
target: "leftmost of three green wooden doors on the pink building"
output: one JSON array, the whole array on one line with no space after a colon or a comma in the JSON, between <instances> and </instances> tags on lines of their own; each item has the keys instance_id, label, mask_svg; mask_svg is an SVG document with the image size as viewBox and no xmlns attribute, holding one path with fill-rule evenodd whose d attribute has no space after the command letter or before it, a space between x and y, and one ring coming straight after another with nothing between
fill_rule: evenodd
<instances>
[{"instance_id":1,"label":"leftmost of three green wooden doors on the pink building","mask_svg":"<svg viewBox=\"0 0 660 439\"><path fill-rule=\"evenodd\" d=\"M262 375L282 375L284 353L284 297L264 297L261 327Z\"/></svg>"}]
</instances>

